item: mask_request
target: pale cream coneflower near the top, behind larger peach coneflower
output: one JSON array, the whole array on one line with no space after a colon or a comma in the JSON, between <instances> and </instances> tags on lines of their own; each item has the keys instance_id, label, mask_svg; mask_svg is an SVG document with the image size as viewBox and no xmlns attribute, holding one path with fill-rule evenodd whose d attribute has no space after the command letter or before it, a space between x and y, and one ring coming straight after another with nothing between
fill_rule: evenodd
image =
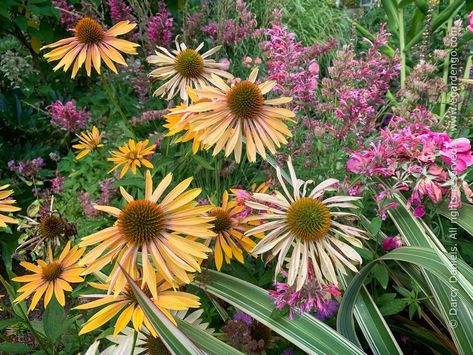
<instances>
[{"instance_id":1,"label":"pale cream coneflower near the top, behind larger peach coneflower","mask_svg":"<svg viewBox=\"0 0 473 355\"><path fill-rule=\"evenodd\" d=\"M186 87L201 87L214 84L213 76L233 78L233 75L222 70L223 64L216 63L213 59L208 59L217 52L221 46L200 54L199 51L204 46L201 43L196 49L187 48L184 43L176 41L176 50L169 52L164 47L157 47L160 52L147 58L148 62L157 65L149 76L158 80L167 80L155 92L154 96L164 97L171 100L178 93L184 102L187 102L189 96ZM213 75L213 76L212 76Z\"/></svg>"}]
</instances>

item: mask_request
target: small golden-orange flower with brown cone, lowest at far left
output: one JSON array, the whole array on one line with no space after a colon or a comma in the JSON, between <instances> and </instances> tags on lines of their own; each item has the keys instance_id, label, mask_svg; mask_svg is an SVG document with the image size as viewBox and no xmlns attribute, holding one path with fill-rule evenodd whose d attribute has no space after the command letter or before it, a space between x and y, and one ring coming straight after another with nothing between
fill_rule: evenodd
<instances>
[{"instance_id":1,"label":"small golden-orange flower with brown cone, lowest at far left","mask_svg":"<svg viewBox=\"0 0 473 355\"><path fill-rule=\"evenodd\" d=\"M15 299L15 302L21 302L34 293L29 307L31 311L35 309L38 301L44 294L44 307L46 308L54 294L59 304L64 306L66 303L64 291L72 291L70 283L84 281L80 275L85 268L77 264L83 252L84 249L80 249L78 246L71 248L71 243L69 242L57 260L54 259L52 249L49 247L49 263L41 259L37 260L37 265L26 261L21 262L20 265L32 271L33 274L13 279L16 282L27 283L18 289L18 292L22 294Z\"/></svg>"}]
</instances>

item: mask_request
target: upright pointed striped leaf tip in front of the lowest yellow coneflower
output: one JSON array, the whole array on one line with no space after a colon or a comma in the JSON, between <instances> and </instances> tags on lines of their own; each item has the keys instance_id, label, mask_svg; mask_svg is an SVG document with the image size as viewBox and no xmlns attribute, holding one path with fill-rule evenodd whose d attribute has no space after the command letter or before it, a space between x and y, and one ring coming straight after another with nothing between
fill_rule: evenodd
<instances>
[{"instance_id":1,"label":"upright pointed striped leaf tip in front of the lowest yellow coneflower","mask_svg":"<svg viewBox=\"0 0 473 355\"><path fill-rule=\"evenodd\" d=\"M204 353L178 328L140 289L135 280L121 267L133 294L136 297L145 316L156 329L166 348L173 354L198 354Z\"/></svg>"}]
</instances>

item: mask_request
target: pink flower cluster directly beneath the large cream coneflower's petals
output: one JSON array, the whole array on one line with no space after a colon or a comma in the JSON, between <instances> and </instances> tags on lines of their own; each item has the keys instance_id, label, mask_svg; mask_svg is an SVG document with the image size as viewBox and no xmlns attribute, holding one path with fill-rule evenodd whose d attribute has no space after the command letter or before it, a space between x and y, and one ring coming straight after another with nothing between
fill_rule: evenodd
<instances>
[{"instance_id":1,"label":"pink flower cluster directly beneath the large cream coneflower's petals","mask_svg":"<svg viewBox=\"0 0 473 355\"><path fill-rule=\"evenodd\" d=\"M287 272L282 272L287 277ZM303 314L315 312L319 319L330 318L338 309L338 302L332 297L340 297L340 291L334 285L320 285L315 280L312 267L309 268L308 279L299 291L296 286L289 286L285 282L274 282L275 290L269 290L269 296L273 299L278 309L289 307L289 318L294 318L294 313ZM323 317L322 317L323 315Z\"/></svg>"}]
</instances>

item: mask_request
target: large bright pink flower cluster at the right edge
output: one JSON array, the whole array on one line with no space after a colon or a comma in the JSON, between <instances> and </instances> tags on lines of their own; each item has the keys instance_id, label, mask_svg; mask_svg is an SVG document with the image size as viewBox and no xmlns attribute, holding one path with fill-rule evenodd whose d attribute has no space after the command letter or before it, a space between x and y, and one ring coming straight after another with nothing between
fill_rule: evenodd
<instances>
[{"instance_id":1,"label":"large bright pink flower cluster at the right edge","mask_svg":"<svg viewBox=\"0 0 473 355\"><path fill-rule=\"evenodd\" d=\"M396 116L369 147L351 153L347 161L349 172L395 178L395 187L380 186L378 205L389 199L393 191L406 190L412 190L408 205L414 207L417 217L425 214L425 197L437 204L450 193L450 207L460 207L462 189L473 203L471 189L459 176L473 164L470 141L431 131L433 120L422 107L408 120Z\"/></svg>"}]
</instances>

